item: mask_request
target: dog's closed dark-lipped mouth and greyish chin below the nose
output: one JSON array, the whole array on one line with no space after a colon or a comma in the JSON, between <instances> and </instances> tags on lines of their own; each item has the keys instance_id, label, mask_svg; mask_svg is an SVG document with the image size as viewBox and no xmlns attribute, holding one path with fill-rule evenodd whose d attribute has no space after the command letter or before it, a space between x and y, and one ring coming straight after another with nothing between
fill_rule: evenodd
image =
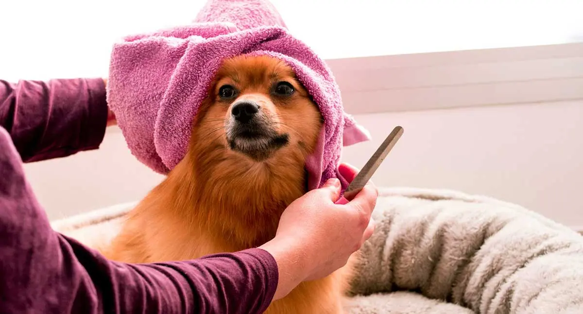
<instances>
[{"instance_id":1,"label":"dog's closed dark-lipped mouth and greyish chin below the nose","mask_svg":"<svg viewBox=\"0 0 583 314\"><path fill-rule=\"evenodd\" d=\"M280 134L269 126L255 123L234 124L227 128L227 142L231 150L255 161L264 161L289 144L289 134Z\"/></svg>"}]
</instances>

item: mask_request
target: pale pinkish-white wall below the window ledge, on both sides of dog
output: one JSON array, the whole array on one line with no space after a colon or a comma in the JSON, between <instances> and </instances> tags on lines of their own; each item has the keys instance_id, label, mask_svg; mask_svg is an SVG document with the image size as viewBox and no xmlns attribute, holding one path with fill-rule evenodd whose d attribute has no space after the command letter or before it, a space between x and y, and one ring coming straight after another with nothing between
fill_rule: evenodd
<instances>
[{"instance_id":1,"label":"pale pinkish-white wall below the window ledge, on both sides of dog","mask_svg":"<svg viewBox=\"0 0 583 314\"><path fill-rule=\"evenodd\" d=\"M393 126L405 128L373 177L379 186L489 195L583 226L583 101L356 118L373 135L345 150L343 160L357 167ZM140 199L161 179L131 156L117 129L100 150L27 164L26 172L50 218Z\"/></svg>"}]
</instances>

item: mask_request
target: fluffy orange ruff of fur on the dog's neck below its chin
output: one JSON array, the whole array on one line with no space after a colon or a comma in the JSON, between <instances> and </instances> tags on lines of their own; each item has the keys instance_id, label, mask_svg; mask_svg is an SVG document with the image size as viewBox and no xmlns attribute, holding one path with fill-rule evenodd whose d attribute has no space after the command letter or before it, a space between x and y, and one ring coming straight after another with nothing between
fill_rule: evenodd
<instances>
[{"instance_id":1,"label":"fluffy orange ruff of fur on the dog's neck below its chin","mask_svg":"<svg viewBox=\"0 0 583 314\"><path fill-rule=\"evenodd\" d=\"M166 196L160 200L172 204L174 217L232 249L269 241L283 210L305 192L303 152L255 163L222 144L205 145L191 145L156 194Z\"/></svg>"}]
</instances>

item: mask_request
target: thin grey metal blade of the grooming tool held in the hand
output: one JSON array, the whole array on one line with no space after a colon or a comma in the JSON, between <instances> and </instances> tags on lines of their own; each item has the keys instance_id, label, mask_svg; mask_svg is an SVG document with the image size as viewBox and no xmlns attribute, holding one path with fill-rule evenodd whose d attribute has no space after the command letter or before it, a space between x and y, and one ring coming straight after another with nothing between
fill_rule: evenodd
<instances>
[{"instance_id":1,"label":"thin grey metal blade of the grooming tool held in the hand","mask_svg":"<svg viewBox=\"0 0 583 314\"><path fill-rule=\"evenodd\" d=\"M373 177L375 171L381 165L382 161L389 154L389 151L395 146L399 138L403 135L403 128L401 126L396 126L391 134L387 136L387 139L382 142L381 146L378 147L377 151L374 152L373 156L367 161L364 167L360 170L359 174L354 177L353 181L350 182L348 188L344 192L344 197L346 199L352 199L356 196L364 185L367 184L368 180Z\"/></svg>"}]
</instances>

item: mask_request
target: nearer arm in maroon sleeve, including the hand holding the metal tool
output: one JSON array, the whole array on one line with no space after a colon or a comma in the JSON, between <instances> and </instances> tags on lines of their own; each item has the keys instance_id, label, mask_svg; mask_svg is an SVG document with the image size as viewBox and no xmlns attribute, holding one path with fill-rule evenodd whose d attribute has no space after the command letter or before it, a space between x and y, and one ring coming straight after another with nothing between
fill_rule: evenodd
<instances>
[{"instance_id":1,"label":"nearer arm in maroon sleeve, including the hand holding the metal tool","mask_svg":"<svg viewBox=\"0 0 583 314\"><path fill-rule=\"evenodd\" d=\"M301 281L342 267L372 234L377 197L368 185L336 205L339 182L331 181L293 202L276 237L258 249L124 264L52 230L3 128L0 177L0 308L17 313L261 313Z\"/></svg>"}]
</instances>

